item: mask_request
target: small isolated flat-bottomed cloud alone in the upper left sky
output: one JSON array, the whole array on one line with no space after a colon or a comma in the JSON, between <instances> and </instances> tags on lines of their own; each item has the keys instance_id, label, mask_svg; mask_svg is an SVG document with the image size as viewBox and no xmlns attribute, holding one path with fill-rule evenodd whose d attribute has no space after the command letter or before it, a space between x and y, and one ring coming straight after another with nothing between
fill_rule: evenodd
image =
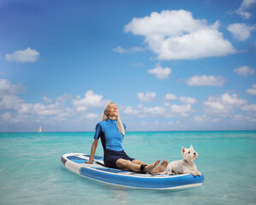
<instances>
[{"instance_id":1,"label":"small isolated flat-bottomed cloud alone in the upper left sky","mask_svg":"<svg viewBox=\"0 0 256 205\"><path fill-rule=\"evenodd\" d=\"M6 54L6 61L34 62L38 61L40 53L37 50L27 48L26 50L16 50L12 54Z\"/></svg>"}]
</instances>

